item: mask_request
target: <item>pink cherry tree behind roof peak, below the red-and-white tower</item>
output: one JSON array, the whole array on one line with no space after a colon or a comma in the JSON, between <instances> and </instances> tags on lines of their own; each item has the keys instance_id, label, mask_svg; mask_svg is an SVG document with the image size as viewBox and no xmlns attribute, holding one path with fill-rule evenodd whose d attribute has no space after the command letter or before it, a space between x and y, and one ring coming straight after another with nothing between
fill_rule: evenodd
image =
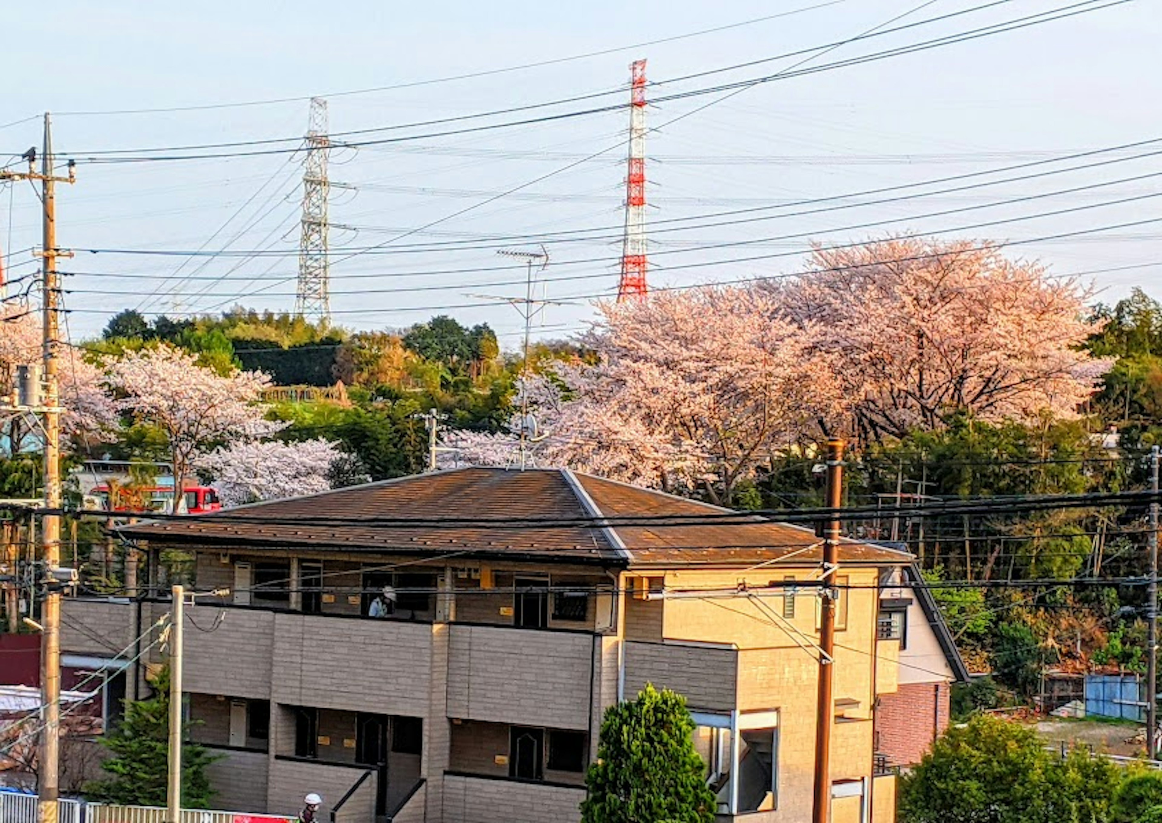
<instances>
[{"instance_id":1,"label":"pink cherry tree behind roof peak, below the red-and-white tower","mask_svg":"<svg viewBox=\"0 0 1162 823\"><path fill-rule=\"evenodd\" d=\"M815 431L839 406L825 356L753 288L659 292L598 303L583 338L600 363L559 367L557 396L530 398L546 431L540 465L645 486L700 486L729 503L773 450ZM510 456L512 436L459 435L461 456ZM509 457L508 461L511 458Z\"/></svg>"}]
</instances>

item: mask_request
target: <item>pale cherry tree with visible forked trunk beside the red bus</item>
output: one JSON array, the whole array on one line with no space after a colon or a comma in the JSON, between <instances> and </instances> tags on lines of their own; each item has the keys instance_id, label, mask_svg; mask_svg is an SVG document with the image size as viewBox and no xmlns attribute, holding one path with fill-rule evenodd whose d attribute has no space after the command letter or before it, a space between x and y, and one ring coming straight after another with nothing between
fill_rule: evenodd
<instances>
[{"instance_id":1,"label":"pale cherry tree with visible forked trunk beside the red bus","mask_svg":"<svg viewBox=\"0 0 1162 823\"><path fill-rule=\"evenodd\" d=\"M166 437L173 464L177 510L195 456L222 441L256 439L284 424L263 418L261 392L270 378L260 372L218 374L196 357L160 345L129 352L108 365L116 406Z\"/></svg>"}]
</instances>

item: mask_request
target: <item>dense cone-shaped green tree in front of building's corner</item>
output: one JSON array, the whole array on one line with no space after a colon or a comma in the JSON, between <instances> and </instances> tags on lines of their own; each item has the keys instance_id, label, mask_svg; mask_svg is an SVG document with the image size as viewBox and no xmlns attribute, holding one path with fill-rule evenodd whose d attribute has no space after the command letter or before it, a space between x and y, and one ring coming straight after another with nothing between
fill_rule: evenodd
<instances>
[{"instance_id":1,"label":"dense cone-shaped green tree in front of building's corner","mask_svg":"<svg viewBox=\"0 0 1162 823\"><path fill-rule=\"evenodd\" d=\"M611 706L589 766L582 823L713 823L715 795L694 750L686 699L652 685Z\"/></svg>"}]
</instances>

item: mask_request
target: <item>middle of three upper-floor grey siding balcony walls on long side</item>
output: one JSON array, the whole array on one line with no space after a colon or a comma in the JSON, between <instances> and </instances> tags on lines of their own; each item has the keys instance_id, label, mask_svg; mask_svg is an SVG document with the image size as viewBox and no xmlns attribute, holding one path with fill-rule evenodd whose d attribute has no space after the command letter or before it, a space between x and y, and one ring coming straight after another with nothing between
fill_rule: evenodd
<instances>
[{"instance_id":1,"label":"middle of three upper-floor grey siding balcony walls on long side","mask_svg":"<svg viewBox=\"0 0 1162 823\"><path fill-rule=\"evenodd\" d=\"M431 625L274 615L273 700L428 715Z\"/></svg>"}]
</instances>

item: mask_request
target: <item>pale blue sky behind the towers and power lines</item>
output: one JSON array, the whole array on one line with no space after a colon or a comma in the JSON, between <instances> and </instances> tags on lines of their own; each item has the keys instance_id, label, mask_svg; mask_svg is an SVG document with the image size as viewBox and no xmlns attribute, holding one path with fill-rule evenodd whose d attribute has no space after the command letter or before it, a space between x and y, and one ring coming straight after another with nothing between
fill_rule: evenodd
<instances>
[{"instance_id":1,"label":"pale blue sky behind the towers and power lines","mask_svg":"<svg viewBox=\"0 0 1162 823\"><path fill-rule=\"evenodd\" d=\"M629 64L645 58L652 287L787 275L812 242L909 232L1007 243L1093 300L1162 296L1162 142L1111 150L1162 138L1162 9L1106 2L45 0L0 52L0 164L21 167L51 112L77 159L57 196L74 341L124 308L289 310L303 153L288 149L323 96L343 144L332 322L446 313L514 349L525 271L498 250L548 253L539 337L616 293ZM1067 7L1088 13L833 65ZM789 69L818 71L708 91ZM1055 159L1081 152L1098 153ZM160 159L205 153L245 156ZM35 192L0 187L9 298L38 243Z\"/></svg>"}]
</instances>

